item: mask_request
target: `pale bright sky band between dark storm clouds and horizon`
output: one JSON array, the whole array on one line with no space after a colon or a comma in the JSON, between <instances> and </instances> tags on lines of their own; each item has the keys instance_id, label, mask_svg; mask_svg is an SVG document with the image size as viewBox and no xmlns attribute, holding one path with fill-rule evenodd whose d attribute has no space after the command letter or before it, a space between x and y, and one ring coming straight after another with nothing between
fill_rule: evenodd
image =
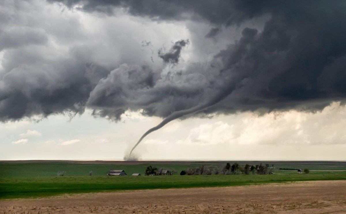
<instances>
[{"instance_id":1,"label":"pale bright sky band between dark storm clouds and horizon","mask_svg":"<svg viewBox=\"0 0 346 214\"><path fill-rule=\"evenodd\" d=\"M71 121L52 115L40 122L0 124L1 160L122 159L147 128L161 121L128 113L122 122L90 116ZM135 150L160 160L345 160L346 108L321 112L218 115L176 120L149 135Z\"/></svg>"}]
</instances>

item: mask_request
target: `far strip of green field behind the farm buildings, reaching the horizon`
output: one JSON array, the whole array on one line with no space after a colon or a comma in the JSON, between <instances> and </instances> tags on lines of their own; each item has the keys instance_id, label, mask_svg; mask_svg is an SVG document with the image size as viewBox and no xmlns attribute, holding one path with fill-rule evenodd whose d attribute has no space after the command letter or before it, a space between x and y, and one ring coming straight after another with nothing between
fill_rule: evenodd
<instances>
[{"instance_id":1,"label":"far strip of green field behind the farm buildings, reaching the horizon","mask_svg":"<svg viewBox=\"0 0 346 214\"><path fill-rule=\"evenodd\" d=\"M91 161L92 162L92 161ZM32 163L18 163L18 162L1 162L0 161L0 178L3 177L42 177L42 176L56 176L57 171L66 171L66 176L85 176L89 175L89 171L93 172L94 176L104 176L110 169L125 170L127 175L133 173L144 174L145 168L149 165L157 168L164 168L180 172L188 167L198 167L201 164L209 166L225 166L227 161L181 161L171 163L167 161L148 162L142 164L85 164L82 161L79 163L73 162L32 162ZM234 161L230 161L232 164ZM118 162L117 162L118 163ZM346 170L346 162L336 161L238 161L240 166L246 163L250 165L265 164L270 166L274 164L275 169L291 168L291 169L304 169L310 170Z\"/></svg>"}]
</instances>

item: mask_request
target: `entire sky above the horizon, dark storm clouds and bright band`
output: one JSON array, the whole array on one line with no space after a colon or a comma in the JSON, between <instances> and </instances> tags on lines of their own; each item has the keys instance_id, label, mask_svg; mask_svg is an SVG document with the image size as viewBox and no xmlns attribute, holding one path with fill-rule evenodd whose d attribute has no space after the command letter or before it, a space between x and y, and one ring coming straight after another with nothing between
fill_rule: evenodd
<instances>
[{"instance_id":1,"label":"entire sky above the horizon, dark storm clouds and bright band","mask_svg":"<svg viewBox=\"0 0 346 214\"><path fill-rule=\"evenodd\" d=\"M4 0L0 160L344 160L346 2Z\"/></svg>"}]
</instances>

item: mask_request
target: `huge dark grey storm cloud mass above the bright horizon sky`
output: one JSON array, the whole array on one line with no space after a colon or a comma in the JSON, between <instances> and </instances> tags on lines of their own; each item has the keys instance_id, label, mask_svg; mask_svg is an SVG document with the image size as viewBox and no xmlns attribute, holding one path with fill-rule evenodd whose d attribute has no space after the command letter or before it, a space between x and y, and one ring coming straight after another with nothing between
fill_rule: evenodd
<instances>
[{"instance_id":1,"label":"huge dark grey storm cloud mass above the bright horizon sky","mask_svg":"<svg viewBox=\"0 0 346 214\"><path fill-rule=\"evenodd\" d=\"M132 38L121 36L125 27L111 32L105 24L104 29L109 30L102 37L105 43L93 35L97 30L82 27L83 20L75 13L62 19L48 13L35 18L30 17L33 9L27 4L4 1L0 3L4 8L0 10L1 121L55 113L73 116L83 113L85 107L92 108L95 116L115 121L126 110L164 118L188 109L195 109L189 113L198 115L258 109L315 111L345 100L345 1L43 3L105 19L117 18L122 8L129 16L158 23L204 23L209 30L201 38L210 39L205 38L210 34L207 37L230 42L221 50L211 50L215 51L213 57L205 61L184 59L189 48L203 45L186 37L171 41L169 51L156 48L157 54L147 56L139 51L141 41L160 43L155 37L133 43ZM42 6L37 1L32 5ZM243 27L263 15L269 16L263 29ZM44 17L51 17L50 25L44 23ZM231 35L213 30L232 26L242 27L235 42ZM125 37L129 40L119 44ZM117 48L121 51L115 54ZM151 62L150 57L161 61L148 64L145 60ZM212 105L196 108L214 99L217 102Z\"/></svg>"}]
</instances>

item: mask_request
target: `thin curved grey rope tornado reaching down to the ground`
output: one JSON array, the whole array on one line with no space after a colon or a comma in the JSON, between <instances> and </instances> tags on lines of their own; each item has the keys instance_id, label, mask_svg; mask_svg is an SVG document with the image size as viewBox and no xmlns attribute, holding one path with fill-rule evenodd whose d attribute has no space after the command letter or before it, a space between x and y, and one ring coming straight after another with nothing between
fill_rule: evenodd
<instances>
[{"instance_id":1,"label":"thin curved grey rope tornado reaching down to the ground","mask_svg":"<svg viewBox=\"0 0 346 214\"><path fill-rule=\"evenodd\" d=\"M203 102L200 105L194 106L192 108L189 109L185 109L185 110L180 110L180 111L176 111L173 112L172 114L170 114L169 116L167 116L160 124L158 124L157 126L154 126L152 128L150 128L148 131L146 131L142 137L140 137L140 139L138 140L138 142L134 145L134 147L131 149L130 151L130 155L129 158L131 158L131 153L133 152L133 150L138 146L138 144L144 139L144 137L146 137L148 134L159 130L160 128L162 128L164 125L166 125L167 123L182 117L184 115L188 115L194 112L198 112L200 110L203 110L205 108L211 107L215 104L217 104L218 102L220 102L221 100L225 99L228 95L230 95L230 93L234 90L234 86L232 86L232 84L229 84L229 86L225 87L224 90L220 90L220 92L213 97L212 99L209 99L208 101Z\"/></svg>"}]
</instances>

